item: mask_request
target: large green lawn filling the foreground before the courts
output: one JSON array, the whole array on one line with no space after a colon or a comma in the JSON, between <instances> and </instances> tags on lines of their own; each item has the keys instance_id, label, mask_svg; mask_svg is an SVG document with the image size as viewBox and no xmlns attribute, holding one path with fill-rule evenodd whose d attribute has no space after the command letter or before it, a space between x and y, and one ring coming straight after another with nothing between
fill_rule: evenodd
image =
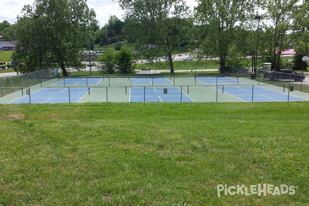
<instances>
[{"instance_id":1,"label":"large green lawn filling the foreground before the courts","mask_svg":"<svg viewBox=\"0 0 309 206\"><path fill-rule=\"evenodd\" d=\"M308 205L308 107L0 105L0 205Z\"/></svg>"}]
</instances>

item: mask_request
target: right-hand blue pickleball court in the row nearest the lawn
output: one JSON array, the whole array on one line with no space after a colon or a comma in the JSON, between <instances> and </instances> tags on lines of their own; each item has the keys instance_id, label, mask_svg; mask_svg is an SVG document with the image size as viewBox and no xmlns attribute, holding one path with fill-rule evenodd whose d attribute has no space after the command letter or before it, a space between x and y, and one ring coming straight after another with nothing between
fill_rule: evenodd
<instances>
[{"instance_id":1,"label":"right-hand blue pickleball court in the row nearest the lawn","mask_svg":"<svg viewBox=\"0 0 309 206\"><path fill-rule=\"evenodd\" d=\"M217 88L217 87L214 87ZM233 95L246 102L252 102L252 86L218 86L218 90ZM288 95L284 92L268 89L261 86L253 86L253 102L269 101L304 101L302 97Z\"/></svg>"}]
</instances>

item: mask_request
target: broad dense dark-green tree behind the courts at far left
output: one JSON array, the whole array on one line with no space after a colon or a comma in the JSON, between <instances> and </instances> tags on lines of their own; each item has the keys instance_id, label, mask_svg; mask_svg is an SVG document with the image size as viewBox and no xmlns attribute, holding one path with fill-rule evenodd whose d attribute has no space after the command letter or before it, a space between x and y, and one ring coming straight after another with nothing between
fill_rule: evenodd
<instances>
[{"instance_id":1,"label":"broad dense dark-green tree behind the courts at far left","mask_svg":"<svg viewBox=\"0 0 309 206\"><path fill-rule=\"evenodd\" d=\"M23 7L17 17L18 44L12 54L15 70L27 73L60 66L67 76L66 66L78 67L80 33L87 38L87 26L95 19L86 0L35 0ZM40 17L34 19L34 15Z\"/></svg>"}]
</instances>

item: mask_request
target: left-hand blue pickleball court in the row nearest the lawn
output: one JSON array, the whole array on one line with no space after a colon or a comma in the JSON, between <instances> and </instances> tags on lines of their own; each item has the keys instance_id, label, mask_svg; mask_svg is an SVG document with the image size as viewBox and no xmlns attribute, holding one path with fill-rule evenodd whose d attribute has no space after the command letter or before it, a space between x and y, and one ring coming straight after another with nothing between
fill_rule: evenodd
<instances>
[{"instance_id":1,"label":"left-hand blue pickleball court in the row nearest the lawn","mask_svg":"<svg viewBox=\"0 0 309 206\"><path fill-rule=\"evenodd\" d=\"M30 89L31 91L31 89ZM70 91L70 94L69 94ZM78 102L89 92L88 88L44 88L16 99L9 104L20 103L69 103ZM24 91L26 93L26 91Z\"/></svg>"}]
</instances>

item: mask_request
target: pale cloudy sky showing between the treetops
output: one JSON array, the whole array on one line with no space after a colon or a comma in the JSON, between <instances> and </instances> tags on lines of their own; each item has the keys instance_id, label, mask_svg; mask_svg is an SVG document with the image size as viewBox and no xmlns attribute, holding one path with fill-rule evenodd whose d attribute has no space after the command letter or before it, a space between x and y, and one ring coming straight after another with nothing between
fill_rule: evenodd
<instances>
[{"instance_id":1,"label":"pale cloudy sky showing between the treetops","mask_svg":"<svg viewBox=\"0 0 309 206\"><path fill-rule=\"evenodd\" d=\"M10 24L14 24L17 19L17 15L21 16L21 10L24 5L32 5L34 0L6 0L1 2L0 22L3 20L8 21ZM197 6L195 0L187 0L187 5L193 10L193 6ZM96 19L100 23L100 27L103 27L105 22L108 22L110 16L115 15L119 19L122 19L123 11L119 7L118 3L112 0L87 0L89 8L94 9L96 13Z\"/></svg>"}]
</instances>

